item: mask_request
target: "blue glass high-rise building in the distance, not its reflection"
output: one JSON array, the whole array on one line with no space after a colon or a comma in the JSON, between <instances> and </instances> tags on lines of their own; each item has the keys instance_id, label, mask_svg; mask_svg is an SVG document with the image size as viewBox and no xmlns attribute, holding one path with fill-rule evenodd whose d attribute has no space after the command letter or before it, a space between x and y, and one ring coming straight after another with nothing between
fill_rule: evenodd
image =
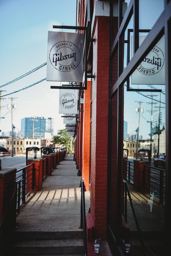
<instances>
[{"instance_id":1,"label":"blue glass high-rise building in the distance, not its reflection","mask_svg":"<svg viewBox=\"0 0 171 256\"><path fill-rule=\"evenodd\" d=\"M26 117L21 120L21 136L22 137L44 138L45 133L54 135L54 118Z\"/></svg>"}]
</instances>

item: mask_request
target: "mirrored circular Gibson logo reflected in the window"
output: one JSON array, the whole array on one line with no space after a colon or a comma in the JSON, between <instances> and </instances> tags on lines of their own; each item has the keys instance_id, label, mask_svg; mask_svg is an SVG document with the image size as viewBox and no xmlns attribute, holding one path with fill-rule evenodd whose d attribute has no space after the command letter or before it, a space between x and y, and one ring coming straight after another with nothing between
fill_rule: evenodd
<instances>
[{"instance_id":1,"label":"mirrored circular Gibson logo reflected in the window","mask_svg":"<svg viewBox=\"0 0 171 256\"><path fill-rule=\"evenodd\" d=\"M137 70L146 75L151 76L160 72L164 65L164 54L162 50L154 46L149 54L144 58Z\"/></svg>"}]
</instances>

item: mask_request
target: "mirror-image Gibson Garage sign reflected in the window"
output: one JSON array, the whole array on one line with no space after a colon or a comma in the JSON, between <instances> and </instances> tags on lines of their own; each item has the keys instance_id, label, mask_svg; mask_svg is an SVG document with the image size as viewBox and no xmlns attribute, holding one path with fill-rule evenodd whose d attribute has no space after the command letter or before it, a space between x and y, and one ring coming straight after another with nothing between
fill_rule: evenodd
<instances>
[{"instance_id":1,"label":"mirror-image Gibson Garage sign reflected in the window","mask_svg":"<svg viewBox=\"0 0 171 256\"><path fill-rule=\"evenodd\" d=\"M140 45L146 36L139 36ZM132 84L165 84L165 40L164 36L157 42L140 65L132 73ZM133 36L131 52L133 57Z\"/></svg>"}]
</instances>

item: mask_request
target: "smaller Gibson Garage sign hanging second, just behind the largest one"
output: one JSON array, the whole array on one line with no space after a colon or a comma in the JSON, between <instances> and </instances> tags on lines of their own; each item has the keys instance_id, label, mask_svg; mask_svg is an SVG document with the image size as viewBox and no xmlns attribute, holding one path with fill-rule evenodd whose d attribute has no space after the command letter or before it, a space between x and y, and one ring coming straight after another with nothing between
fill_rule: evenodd
<instances>
[{"instance_id":1,"label":"smaller Gibson Garage sign hanging second, just behind the largest one","mask_svg":"<svg viewBox=\"0 0 171 256\"><path fill-rule=\"evenodd\" d=\"M61 89L59 91L59 113L77 114L78 112L78 91Z\"/></svg>"}]
</instances>

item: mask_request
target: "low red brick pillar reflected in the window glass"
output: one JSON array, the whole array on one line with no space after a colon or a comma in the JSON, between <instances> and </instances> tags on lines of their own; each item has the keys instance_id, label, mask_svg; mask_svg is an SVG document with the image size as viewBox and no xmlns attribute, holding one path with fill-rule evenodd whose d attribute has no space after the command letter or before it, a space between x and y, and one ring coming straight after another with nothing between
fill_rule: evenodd
<instances>
[{"instance_id":1,"label":"low red brick pillar reflected in the window glass","mask_svg":"<svg viewBox=\"0 0 171 256\"><path fill-rule=\"evenodd\" d=\"M144 165L150 165L150 162L148 161L141 161L141 160L134 160L134 185L133 187L138 192L143 192L143 170ZM150 185L150 175L146 175L145 178L146 184L148 183ZM150 188L149 188L150 189Z\"/></svg>"}]
</instances>

